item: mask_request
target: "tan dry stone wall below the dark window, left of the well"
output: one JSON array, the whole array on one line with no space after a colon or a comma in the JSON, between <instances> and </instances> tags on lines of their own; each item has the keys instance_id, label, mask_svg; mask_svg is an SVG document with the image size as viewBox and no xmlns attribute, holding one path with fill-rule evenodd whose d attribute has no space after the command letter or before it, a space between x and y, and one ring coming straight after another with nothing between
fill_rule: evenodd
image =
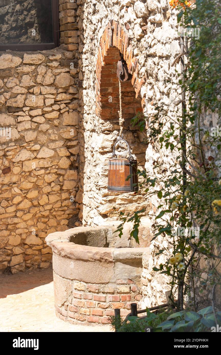
<instances>
[{"instance_id":1,"label":"tan dry stone wall below the dark window, left of the well","mask_svg":"<svg viewBox=\"0 0 221 355\"><path fill-rule=\"evenodd\" d=\"M78 220L73 57L62 49L0 55L0 271L49 267L46 235Z\"/></svg>"}]
</instances>

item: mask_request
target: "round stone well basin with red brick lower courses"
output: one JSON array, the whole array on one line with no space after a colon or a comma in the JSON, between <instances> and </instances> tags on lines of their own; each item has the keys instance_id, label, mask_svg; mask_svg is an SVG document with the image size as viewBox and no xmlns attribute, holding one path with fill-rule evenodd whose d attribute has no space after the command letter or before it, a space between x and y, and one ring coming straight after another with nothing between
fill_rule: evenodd
<instances>
[{"instance_id":1,"label":"round stone well basin with red brick lower courses","mask_svg":"<svg viewBox=\"0 0 221 355\"><path fill-rule=\"evenodd\" d=\"M115 228L116 229L116 228ZM130 247L111 227L77 227L51 233L57 317L70 323L109 323L139 301L142 256L149 248ZM122 245L128 244L128 247Z\"/></svg>"}]
</instances>

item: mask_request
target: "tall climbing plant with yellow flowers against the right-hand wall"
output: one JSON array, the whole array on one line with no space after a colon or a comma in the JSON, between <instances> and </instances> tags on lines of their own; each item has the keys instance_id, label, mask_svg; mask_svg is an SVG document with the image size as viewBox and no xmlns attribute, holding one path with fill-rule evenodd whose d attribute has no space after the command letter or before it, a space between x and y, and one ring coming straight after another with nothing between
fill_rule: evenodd
<instances>
[{"instance_id":1,"label":"tall climbing plant with yellow flowers against the right-hand wall","mask_svg":"<svg viewBox=\"0 0 221 355\"><path fill-rule=\"evenodd\" d=\"M153 240L161 236L168 242L167 247L157 254L167 259L170 255L170 258L154 271L169 277L171 299L177 310L183 310L184 295L190 291L196 310L195 277L200 277L202 272L208 273L207 281L202 279L202 290L205 285L221 285L218 268L221 253L217 254L215 250L215 246L221 244L221 137L210 135L201 126L206 111L215 113L219 117L217 124L220 123L221 7L217 0L196 0L192 5L188 1L171 1L171 6L179 11L177 20L182 28L199 29L200 35L191 38L181 35L186 44L187 60L181 65L181 71L177 66L183 99L179 97L176 111L172 115L169 107L158 103L155 115L147 118L148 142L158 149L159 156L162 157L165 151L173 155L174 163L168 168L162 166L162 159L159 159L153 162L153 171L138 171L139 187L147 198L159 201L159 212L152 225ZM144 127L140 116L133 119L133 124ZM205 154L203 144L214 152L213 156ZM139 242L138 227L142 215L144 211L137 211L132 217L121 213L119 235L123 224L132 221L131 236ZM194 230L194 227L198 229ZM212 262L211 270L200 269L201 258ZM178 299L175 302L176 293Z\"/></svg>"}]
</instances>

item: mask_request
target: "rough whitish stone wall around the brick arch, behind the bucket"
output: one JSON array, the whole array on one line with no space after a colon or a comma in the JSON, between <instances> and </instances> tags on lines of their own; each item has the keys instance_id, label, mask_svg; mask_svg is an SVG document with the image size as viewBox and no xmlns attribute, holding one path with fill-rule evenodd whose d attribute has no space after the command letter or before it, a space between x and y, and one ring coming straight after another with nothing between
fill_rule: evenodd
<instances>
[{"instance_id":1,"label":"rough whitish stone wall around the brick arch, behind the bucket","mask_svg":"<svg viewBox=\"0 0 221 355\"><path fill-rule=\"evenodd\" d=\"M81 183L83 224L106 225L114 221L115 225L118 225L116 211L132 213L144 207L149 213L149 216L143 217L142 220L142 237L145 240L148 239L148 235L151 235L151 220L154 220L159 201L145 200L142 192L134 195L106 191L105 163L111 156L112 146L120 127L117 123L117 110L106 114L108 107L105 98L113 91L113 79L111 76L111 80L106 80L105 75L112 74L106 70L110 70L109 51L110 48L113 51L111 46L114 46L116 61L119 59L117 52L120 50L127 62L129 72L133 75L131 85L136 99L140 100L145 116L149 119L155 105L165 103L170 107L167 114L173 117L173 112L176 110L174 101L179 95L176 71L180 70L179 64L172 66L174 59L180 53L176 14L169 10L166 0L93 2L86 0L81 1L81 4L84 4L85 42L81 66L84 78L81 90L81 102L84 108L82 123L86 152L81 169L84 168ZM109 86L104 87L104 78ZM116 102L117 99L118 96ZM131 104L127 105L125 101L124 109L127 108L131 108ZM123 111L123 115L127 115L127 112ZM173 155L162 152L156 144L148 142L148 147L143 145L144 136L139 137L136 127L133 131L127 120L123 134L138 162L141 162L143 158L140 157L145 153L145 168L150 175L153 173L154 162L160 162L165 167L173 163ZM83 147L81 149L83 153ZM122 149L119 149L118 153L122 154ZM140 167L143 167L143 163ZM161 237L152 242L151 258L145 260L144 256L143 259L143 306L154 306L165 301L165 291L169 289L165 276L156 275L152 270L153 266L158 267L161 262L161 256L155 254L161 249L162 243L167 245L167 241L162 240Z\"/></svg>"}]
</instances>

